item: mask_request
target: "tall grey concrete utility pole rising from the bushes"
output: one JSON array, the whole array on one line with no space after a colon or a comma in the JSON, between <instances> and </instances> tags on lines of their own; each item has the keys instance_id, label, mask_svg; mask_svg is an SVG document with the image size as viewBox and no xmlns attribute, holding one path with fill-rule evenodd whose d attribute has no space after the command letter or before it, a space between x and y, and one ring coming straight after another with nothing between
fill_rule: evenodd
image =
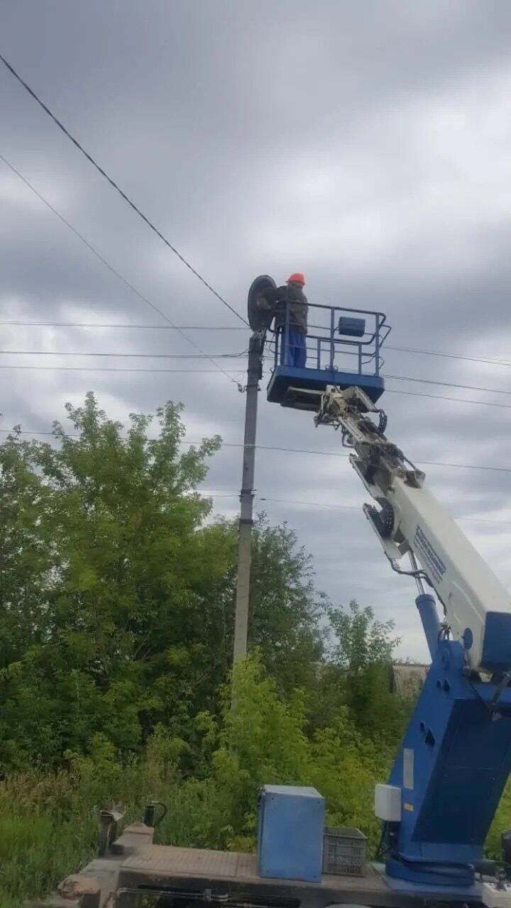
<instances>
[{"instance_id":1,"label":"tall grey concrete utility pole rising from the bushes","mask_svg":"<svg viewBox=\"0 0 511 908\"><path fill-rule=\"evenodd\" d=\"M250 594L250 561L252 526L254 524L255 433L257 429L257 395L263 374L262 355L264 333L255 332L248 347L246 380L245 439L243 443L243 474L240 492L239 542L235 606L235 647L233 664L246 656L248 632L248 600Z\"/></svg>"}]
</instances>

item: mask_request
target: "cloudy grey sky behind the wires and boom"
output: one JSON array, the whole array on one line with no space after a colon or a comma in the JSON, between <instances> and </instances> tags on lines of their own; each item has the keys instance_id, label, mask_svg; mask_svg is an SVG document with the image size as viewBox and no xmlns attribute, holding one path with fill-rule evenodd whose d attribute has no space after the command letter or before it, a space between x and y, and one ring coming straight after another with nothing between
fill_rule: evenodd
<instances>
[{"instance_id":1,"label":"cloudy grey sky behind the wires and boom","mask_svg":"<svg viewBox=\"0 0 511 908\"><path fill-rule=\"evenodd\" d=\"M386 382L388 434L418 463L471 465L425 469L508 586L510 38L506 0L0 5L1 53L236 310L255 275L299 270L310 301L386 311L389 344L401 349L387 351L385 372L407 379ZM0 153L135 291L200 328L186 333L207 353L245 350L241 322L5 67L0 109ZM0 160L0 320L163 326L1 324L4 429L47 430L66 400L95 390L118 419L181 400L189 439L243 439L244 397L230 379L245 360L219 360L225 375L209 360L155 358L196 348L135 291ZM73 355L91 351L119 356ZM46 368L12 368L35 365ZM264 394L258 439L340 446L310 414ZM218 512L235 515L240 457L226 447L212 463L205 489ZM319 587L394 617L403 655L426 656L412 582L392 575L361 510L339 507L365 500L346 459L261 449L256 488L274 499L257 507L286 519L313 554Z\"/></svg>"}]
</instances>

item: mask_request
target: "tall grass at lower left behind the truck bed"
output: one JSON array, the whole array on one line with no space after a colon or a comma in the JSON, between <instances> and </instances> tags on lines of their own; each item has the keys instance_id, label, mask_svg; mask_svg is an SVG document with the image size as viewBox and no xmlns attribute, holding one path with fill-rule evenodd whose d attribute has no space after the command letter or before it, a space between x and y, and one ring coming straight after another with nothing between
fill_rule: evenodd
<instances>
[{"instance_id":1,"label":"tall grass at lower left behind the truck bed","mask_svg":"<svg viewBox=\"0 0 511 908\"><path fill-rule=\"evenodd\" d=\"M175 767L165 777L163 766L155 780L145 757L118 768L116 778L101 768L92 776L41 770L0 784L0 908L20 908L84 866L95 854L101 807L122 804L131 822L150 800L162 800L168 814L160 840L202 844L205 784L179 783Z\"/></svg>"}]
</instances>

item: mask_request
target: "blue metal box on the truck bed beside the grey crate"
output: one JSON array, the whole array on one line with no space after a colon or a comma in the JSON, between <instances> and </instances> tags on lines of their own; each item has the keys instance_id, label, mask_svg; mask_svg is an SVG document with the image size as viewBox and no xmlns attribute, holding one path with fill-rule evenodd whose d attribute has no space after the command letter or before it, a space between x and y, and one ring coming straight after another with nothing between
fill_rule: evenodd
<instances>
[{"instance_id":1,"label":"blue metal box on the truck bed beside the grey crate","mask_svg":"<svg viewBox=\"0 0 511 908\"><path fill-rule=\"evenodd\" d=\"M259 800L259 875L318 883L324 826L325 800L316 788L264 785Z\"/></svg>"}]
</instances>

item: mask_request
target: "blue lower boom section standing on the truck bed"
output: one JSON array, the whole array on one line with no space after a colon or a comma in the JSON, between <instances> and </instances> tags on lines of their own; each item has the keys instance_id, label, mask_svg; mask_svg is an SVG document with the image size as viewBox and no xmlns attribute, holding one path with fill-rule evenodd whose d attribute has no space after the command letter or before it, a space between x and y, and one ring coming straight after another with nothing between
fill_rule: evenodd
<instances>
[{"instance_id":1,"label":"blue lower boom section standing on the truck bed","mask_svg":"<svg viewBox=\"0 0 511 908\"><path fill-rule=\"evenodd\" d=\"M402 818L387 824L389 875L470 884L511 770L511 690L466 677L463 647L440 641L390 775Z\"/></svg>"}]
</instances>

